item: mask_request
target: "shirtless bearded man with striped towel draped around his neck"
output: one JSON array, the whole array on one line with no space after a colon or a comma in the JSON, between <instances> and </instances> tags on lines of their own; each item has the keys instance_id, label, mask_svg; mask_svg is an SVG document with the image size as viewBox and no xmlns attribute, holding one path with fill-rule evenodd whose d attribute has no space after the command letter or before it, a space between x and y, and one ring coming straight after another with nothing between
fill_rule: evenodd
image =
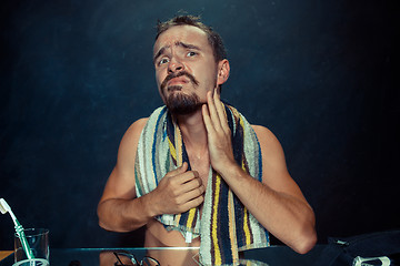
<instances>
[{"instance_id":1,"label":"shirtless bearded man with striped towel draped around his neck","mask_svg":"<svg viewBox=\"0 0 400 266\"><path fill-rule=\"evenodd\" d=\"M220 101L230 72L221 38L191 16L160 23L158 30L153 61L167 109L126 132L98 206L100 226L130 232L146 225L146 246L207 242L210 264L230 262L221 262L224 245L233 257L238 247L267 246L262 229L298 253L309 252L317 241L314 215L288 173L280 143ZM240 214L249 221L242 226L243 242ZM256 231L262 245L249 235ZM226 235L218 238L219 232Z\"/></svg>"}]
</instances>

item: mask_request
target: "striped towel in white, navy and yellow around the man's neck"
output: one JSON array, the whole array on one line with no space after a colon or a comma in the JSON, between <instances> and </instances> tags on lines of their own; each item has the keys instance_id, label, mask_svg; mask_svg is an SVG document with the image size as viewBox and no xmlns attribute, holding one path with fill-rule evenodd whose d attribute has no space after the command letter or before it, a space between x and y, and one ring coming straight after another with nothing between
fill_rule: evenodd
<instances>
[{"instance_id":1,"label":"striped towel in white, navy and yellow around the man's neck","mask_svg":"<svg viewBox=\"0 0 400 266\"><path fill-rule=\"evenodd\" d=\"M242 114L224 105L232 132L236 162L251 176L261 181L261 150L257 135ZM170 171L190 162L178 124L166 106L149 117L138 144L134 164L138 197L154 190ZM156 217L167 229L182 233L188 243L201 236L202 265L239 265L239 252L269 246L268 232L241 204L223 178L211 168L204 204L182 214Z\"/></svg>"}]
</instances>

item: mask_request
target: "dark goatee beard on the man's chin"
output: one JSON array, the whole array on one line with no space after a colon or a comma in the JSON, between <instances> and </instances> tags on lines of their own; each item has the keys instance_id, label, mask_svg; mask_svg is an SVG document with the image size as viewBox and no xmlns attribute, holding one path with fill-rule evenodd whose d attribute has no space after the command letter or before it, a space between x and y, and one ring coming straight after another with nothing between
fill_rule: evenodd
<instances>
[{"instance_id":1,"label":"dark goatee beard on the man's chin","mask_svg":"<svg viewBox=\"0 0 400 266\"><path fill-rule=\"evenodd\" d=\"M180 86L177 88L169 88L169 90L176 90L177 92L170 94L166 99L166 105L168 110L174 114L174 115L184 115L184 114L191 114L199 109L201 109L202 103L200 102L200 99L194 93L187 95L183 94L180 91Z\"/></svg>"}]
</instances>

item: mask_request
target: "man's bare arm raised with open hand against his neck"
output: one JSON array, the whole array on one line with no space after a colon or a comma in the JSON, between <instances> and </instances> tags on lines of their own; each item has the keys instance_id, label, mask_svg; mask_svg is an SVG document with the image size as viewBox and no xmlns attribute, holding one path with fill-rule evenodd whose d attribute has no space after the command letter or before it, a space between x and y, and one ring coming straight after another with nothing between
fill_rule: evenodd
<instances>
[{"instance_id":1,"label":"man's bare arm raised with open hand against his neck","mask_svg":"<svg viewBox=\"0 0 400 266\"><path fill-rule=\"evenodd\" d=\"M298 253L309 252L317 242L314 214L290 177L282 147L274 135L263 126L253 126L262 152L260 183L234 162L230 130L218 93L208 94L203 117L212 167L271 234Z\"/></svg>"}]
</instances>

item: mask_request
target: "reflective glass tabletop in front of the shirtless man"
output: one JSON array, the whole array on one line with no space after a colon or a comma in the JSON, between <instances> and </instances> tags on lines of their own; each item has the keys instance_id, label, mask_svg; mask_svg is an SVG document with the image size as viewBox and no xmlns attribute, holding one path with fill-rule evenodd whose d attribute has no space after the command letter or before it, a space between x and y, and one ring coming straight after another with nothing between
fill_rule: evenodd
<instances>
[{"instance_id":1,"label":"reflective glass tabletop in front of the shirtless man","mask_svg":"<svg viewBox=\"0 0 400 266\"><path fill-rule=\"evenodd\" d=\"M312 265L320 256L323 245L317 245L304 255L294 253L286 246L270 246L246 250L241 255L243 265L269 265L292 266ZM127 255L133 255L137 260L150 256L159 260L160 265L198 266L199 248L173 247L173 248L51 248L50 265L52 266L112 266L118 262L114 253L120 254L119 259L127 259ZM121 255L122 254L122 255ZM0 262L0 266L13 264L13 254ZM129 264L127 264L129 265Z\"/></svg>"}]
</instances>

